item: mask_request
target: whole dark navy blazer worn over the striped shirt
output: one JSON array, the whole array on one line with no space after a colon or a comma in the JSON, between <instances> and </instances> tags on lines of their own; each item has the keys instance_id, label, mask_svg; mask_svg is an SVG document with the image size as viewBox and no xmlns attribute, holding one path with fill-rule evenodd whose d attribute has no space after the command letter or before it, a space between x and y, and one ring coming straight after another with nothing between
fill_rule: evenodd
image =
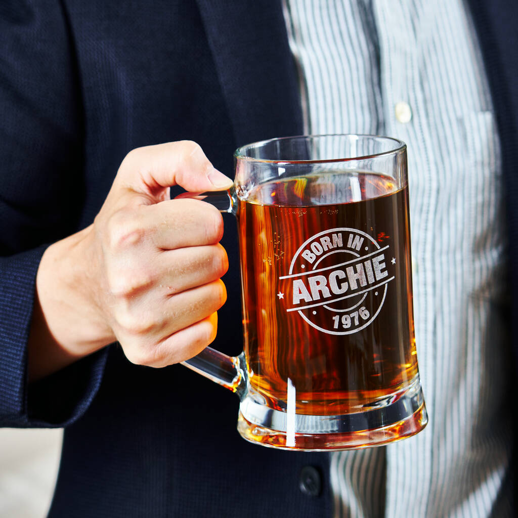
<instances>
[{"instance_id":1,"label":"whole dark navy blazer worn over the striped shirt","mask_svg":"<svg viewBox=\"0 0 518 518\"><path fill-rule=\"evenodd\" d=\"M515 257L518 5L470 4ZM281 3L4 0L0 63L0 422L66 426L50 516L330 515L328 455L242 440L237 398L183 366L135 366L114 344L34 385L25 375L41 254L93 221L128 151L192 139L231 175L237 146L303 131ZM214 347L232 355L242 347L236 243L225 218L228 300ZM510 283L514 294L512 268ZM301 484L308 465L314 491Z\"/></svg>"}]
</instances>

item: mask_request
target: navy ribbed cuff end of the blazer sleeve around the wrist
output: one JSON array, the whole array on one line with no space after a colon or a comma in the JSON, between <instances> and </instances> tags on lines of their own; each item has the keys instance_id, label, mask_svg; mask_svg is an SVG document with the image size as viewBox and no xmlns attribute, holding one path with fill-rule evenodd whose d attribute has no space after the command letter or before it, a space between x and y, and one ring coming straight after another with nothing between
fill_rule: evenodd
<instances>
[{"instance_id":1,"label":"navy ribbed cuff end of the blazer sleeve around the wrist","mask_svg":"<svg viewBox=\"0 0 518 518\"><path fill-rule=\"evenodd\" d=\"M0 257L0 426L66 426L87 410L103 377L108 348L27 384L36 272L45 249Z\"/></svg>"}]
</instances>

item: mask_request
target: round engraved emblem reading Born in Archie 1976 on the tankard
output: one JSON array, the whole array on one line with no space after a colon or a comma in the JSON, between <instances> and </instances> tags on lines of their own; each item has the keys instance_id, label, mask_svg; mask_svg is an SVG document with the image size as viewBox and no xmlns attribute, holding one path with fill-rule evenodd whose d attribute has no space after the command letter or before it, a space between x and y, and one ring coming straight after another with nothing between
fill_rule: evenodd
<instances>
[{"instance_id":1,"label":"round engraved emblem reading Born in Archie 1976 on the tankard","mask_svg":"<svg viewBox=\"0 0 518 518\"><path fill-rule=\"evenodd\" d=\"M355 333L381 310L396 261L389 244L382 247L365 232L320 232L299 247L288 275L279 277L278 301L324 333Z\"/></svg>"}]
</instances>

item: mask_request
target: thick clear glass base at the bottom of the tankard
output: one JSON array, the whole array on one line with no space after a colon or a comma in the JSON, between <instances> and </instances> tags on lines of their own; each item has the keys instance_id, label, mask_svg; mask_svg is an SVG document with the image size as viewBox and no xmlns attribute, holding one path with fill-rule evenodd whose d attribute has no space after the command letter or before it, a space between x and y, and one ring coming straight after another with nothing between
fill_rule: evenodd
<instances>
[{"instance_id":1,"label":"thick clear glass base at the bottom of the tankard","mask_svg":"<svg viewBox=\"0 0 518 518\"><path fill-rule=\"evenodd\" d=\"M250 441L283 450L352 450L415 435L428 422L419 377L380 408L342 415L291 415L241 401L237 429Z\"/></svg>"}]
</instances>

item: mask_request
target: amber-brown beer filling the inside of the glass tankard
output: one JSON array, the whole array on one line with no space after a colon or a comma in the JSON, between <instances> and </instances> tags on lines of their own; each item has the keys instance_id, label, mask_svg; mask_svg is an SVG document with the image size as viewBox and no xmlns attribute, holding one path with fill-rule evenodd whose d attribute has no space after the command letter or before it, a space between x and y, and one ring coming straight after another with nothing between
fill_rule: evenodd
<instances>
[{"instance_id":1,"label":"amber-brown beer filling the inside of the glass tankard","mask_svg":"<svg viewBox=\"0 0 518 518\"><path fill-rule=\"evenodd\" d=\"M238 214L256 399L285 412L291 389L296 414L336 416L408 389L418 378L408 187L321 171L256 186Z\"/></svg>"}]
</instances>

